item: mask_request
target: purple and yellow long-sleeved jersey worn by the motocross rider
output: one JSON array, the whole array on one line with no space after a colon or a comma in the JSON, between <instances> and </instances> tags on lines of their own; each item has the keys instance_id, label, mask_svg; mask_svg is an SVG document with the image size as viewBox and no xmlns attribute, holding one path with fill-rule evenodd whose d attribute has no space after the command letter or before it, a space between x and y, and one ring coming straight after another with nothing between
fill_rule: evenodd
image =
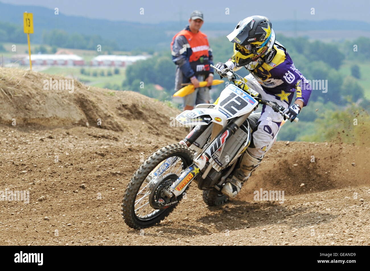
<instances>
[{"instance_id":1,"label":"purple and yellow long-sleeved jersey worn by the motocross rider","mask_svg":"<svg viewBox=\"0 0 370 271\"><path fill-rule=\"evenodd\" d=\"M233 57L230 60L235 63ZM239 68L234 68L234 70L236 69ZM293 93L297 91L296 99L302 100L303 106L307 105L311 95L311 86L302 73L296 69L285 47L279 42L275 41L273 48L266 55L263 65L249 72L266 93L275 95L290 104L294 96Z\"/></svg>"}]
</instances>

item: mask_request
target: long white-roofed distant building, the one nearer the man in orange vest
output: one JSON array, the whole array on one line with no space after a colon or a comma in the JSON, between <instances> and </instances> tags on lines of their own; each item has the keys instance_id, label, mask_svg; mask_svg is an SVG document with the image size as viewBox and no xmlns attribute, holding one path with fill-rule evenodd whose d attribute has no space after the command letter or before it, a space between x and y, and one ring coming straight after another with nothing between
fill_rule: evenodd
<instances>
[{"instance_id":1,"label":"long white-roofed distant building, the one nearer the man in orange vest","mask_svg":"<svg viewBox=\"0 0 370 271\"><path fill-rule=\"evenodd\" d=\"M145 60L147 58L149 58L149 56L145 55L99 55L91 60L90 65L124 67L138 60Z\"/></svg>"}]
</instances>

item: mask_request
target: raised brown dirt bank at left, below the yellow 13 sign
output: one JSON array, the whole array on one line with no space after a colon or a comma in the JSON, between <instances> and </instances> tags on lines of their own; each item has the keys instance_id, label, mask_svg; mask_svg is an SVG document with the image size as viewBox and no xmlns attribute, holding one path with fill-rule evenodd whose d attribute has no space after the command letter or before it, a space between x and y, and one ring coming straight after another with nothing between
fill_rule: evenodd
<instances>
[{"instance_id":1,"label":"raised brown dirt bank at left, below the yellow 13 sign","mask_svg":"<svg viewBox=\"0 0 370 271\"><path fill-rule=\"evenodd\" d=\"M71 79L0 68L0 94L3 96L0 123L35 128L87 126L113 131L141 130L159 135L158 127L168 127L170 117L179 113L139 93L87 87L77 80L68 80ZM53 90L54 85L64 90ZM177 131L184 131L171 130L175 130L172 133L176 137Z\"/></svg>"}]
</instances>

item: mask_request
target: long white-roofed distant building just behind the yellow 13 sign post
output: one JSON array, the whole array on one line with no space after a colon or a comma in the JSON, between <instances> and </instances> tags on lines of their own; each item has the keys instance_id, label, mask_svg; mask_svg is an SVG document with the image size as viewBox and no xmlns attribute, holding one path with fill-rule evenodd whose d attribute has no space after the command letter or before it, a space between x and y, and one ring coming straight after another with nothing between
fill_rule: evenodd
<instances>
[{"instance_id":1,"label":"long white-roofed distant building just behind the yellow 13 sign post","mask_svg":"<svg viewBox=\"0 0 370 271\"><path fill-rule=\"evenodd\" d=\"M57 66L83 66L85 61L81 56L66 54L66 55L48 55L48 54L31 54L32 65L57 65ZM29 57L25 56L21 61L21 65L30 65Z\"/></svg>"}]
</instances>

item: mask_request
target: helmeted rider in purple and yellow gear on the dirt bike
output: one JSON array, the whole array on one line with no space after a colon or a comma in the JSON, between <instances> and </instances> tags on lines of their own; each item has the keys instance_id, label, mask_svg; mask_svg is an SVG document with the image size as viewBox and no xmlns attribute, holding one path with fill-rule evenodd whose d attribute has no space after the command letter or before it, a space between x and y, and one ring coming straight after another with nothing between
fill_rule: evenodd
<instances>
[{"instance_id":1,"label":"helmeted rider in purple and yellow gear on the dirt bike","mask_svg":"<svg viewBox=\"0 0 370 271\"><path fill-rule=\"evenodd\" d=\"M285 47L275 40L275 32L267 17L251 16L240 21L227 36L234 43L234 54L226 63L218 62L216 72L225 76L227 69L237 71L243 66L250 72L245 77L249 88L256 90L262 99L283 106L284 113L293 121L302 107L307 105L311 86L298 71ZM296 92L295 102L291 104ZM290 105L290 106L289 106ZM234 198L242 184L258 167L265 153L276 140L283 116L263 105L261 116L252 131L249 147L240 159L232 176L226 179L222 193Z\"/></svg>"}]
</instances>

